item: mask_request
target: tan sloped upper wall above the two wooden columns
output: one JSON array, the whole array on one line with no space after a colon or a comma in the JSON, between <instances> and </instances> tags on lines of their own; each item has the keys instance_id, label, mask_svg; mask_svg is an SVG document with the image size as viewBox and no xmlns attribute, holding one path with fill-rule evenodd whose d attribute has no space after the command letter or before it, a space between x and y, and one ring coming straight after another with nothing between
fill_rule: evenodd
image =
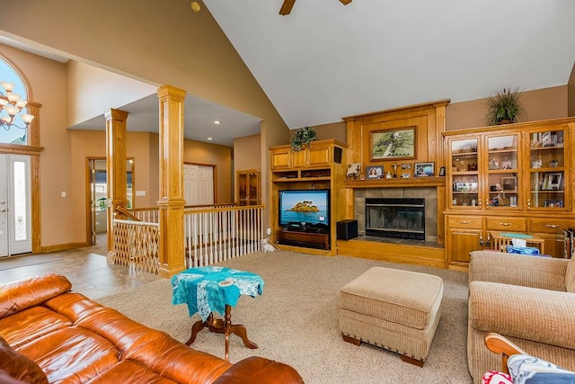
<instances>
[{"instance_id":1,"label":"tan sloped upper wall above the two wooden columns","mask_svg":"<svg viewBox=\"0 0 575 384\"><path fill-rule=\"evenodd\" d=\"M21 22L22 14L34 22ZM51 0L7 2L2 16L0 33L15 40L66 52L79 62L150 84L177 86L188 94L261 118L262 154L267 154L270 146L288 142L286 123L207 7L193 13L188 0L171 0L170 6L161 1L142 4L140 0L71 6L67 1ZM268 166L269 156L261 156L261 169ZM262 174L262 196L269 202L266 178L267 174Z\"/></svg>"}]
</instances>

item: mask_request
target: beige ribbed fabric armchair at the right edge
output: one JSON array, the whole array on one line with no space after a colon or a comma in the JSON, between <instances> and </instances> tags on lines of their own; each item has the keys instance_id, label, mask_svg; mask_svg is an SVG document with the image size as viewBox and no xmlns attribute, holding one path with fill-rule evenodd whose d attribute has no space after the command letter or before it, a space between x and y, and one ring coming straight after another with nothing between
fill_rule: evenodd
<instances>
[{"instance_id":1,"label":"beige ribbed fabric armchair at the right edge","mask_svg":"<svg viewBox=\"0 0 575 384\"><path fill-rule=\"evenodd\" d=\"M467 359L473 382L500 369L484 344L495 332L575 370L575 261L476 251L469 266Z\"/></svg>"}]
</instances>

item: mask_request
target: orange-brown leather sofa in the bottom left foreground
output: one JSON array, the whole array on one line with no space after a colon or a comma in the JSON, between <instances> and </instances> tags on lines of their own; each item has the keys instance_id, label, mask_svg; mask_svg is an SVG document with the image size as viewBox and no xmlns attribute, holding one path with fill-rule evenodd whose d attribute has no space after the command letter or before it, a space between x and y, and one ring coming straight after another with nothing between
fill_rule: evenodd
<instances>
[{"instance_id":1,"label":"orange-brown leather sofa in the bottom left foreground","mask_svg":"<svg viewBox=\"0 0 575 384\"><path fill-rule=\"evenodd\" d=\"M303 382L280 362L193 350L71 289L56 274L0 285L0 382Z\"/></svg>"}]
</instances>

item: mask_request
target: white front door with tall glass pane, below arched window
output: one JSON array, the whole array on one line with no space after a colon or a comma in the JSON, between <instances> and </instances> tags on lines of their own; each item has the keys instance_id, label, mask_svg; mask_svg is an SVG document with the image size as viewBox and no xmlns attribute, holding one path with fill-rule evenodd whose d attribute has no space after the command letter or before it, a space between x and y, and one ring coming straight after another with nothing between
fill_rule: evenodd
<instances>
[{"instance_id":1,"label":"white front door with tall glass pane, below arched window","mask_svg":"<svg viewBox=\"0 0 575 384\"><path fill-rule=\"evenodd\" d=\"M31 253L30 156L0 154L0 257Z\"/></svg>"}]
</instances>

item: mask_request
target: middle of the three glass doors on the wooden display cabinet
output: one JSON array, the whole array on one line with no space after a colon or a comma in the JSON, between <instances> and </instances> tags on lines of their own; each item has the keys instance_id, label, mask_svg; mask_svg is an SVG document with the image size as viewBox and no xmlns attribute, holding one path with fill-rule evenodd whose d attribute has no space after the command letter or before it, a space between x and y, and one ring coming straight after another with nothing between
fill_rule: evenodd
<instances>
[{"instance_id":1,"label":"middle of the three glass doors on the wooden display cabinet","mask_svg":"<svg viewBox=\"0 0 575 384\"><path fill-rule=\"evenodd\" d=\"M518 177L518 134L487 137L487 209L517 208L521 180Z\"/></svg>"}]
</instances>

